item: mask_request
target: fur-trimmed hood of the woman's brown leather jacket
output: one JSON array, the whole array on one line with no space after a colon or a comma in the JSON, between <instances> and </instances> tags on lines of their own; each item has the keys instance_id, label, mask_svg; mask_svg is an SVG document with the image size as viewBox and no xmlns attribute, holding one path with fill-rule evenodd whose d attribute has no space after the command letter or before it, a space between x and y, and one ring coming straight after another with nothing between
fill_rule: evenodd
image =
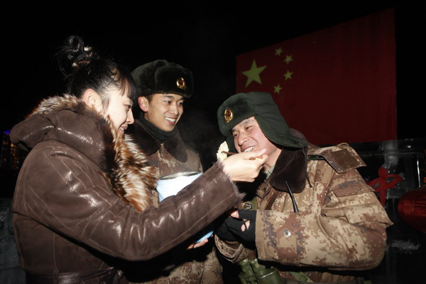
<instances>
[{"instance_id":1,"label":"fur-trimmed hood of the woman's brown leather jacket","mask_svg":"<svg viewBox=\"0 0 426 284\"><path fill-rule=\"evenodd\" d=\"M138 210L151 205L155 168L129 136L122 136L81 99L65 94L44 99L11 131L11 141L31 150L43 141L64 143L96 163L116 195Z\"/></svg>"}]
</instances>

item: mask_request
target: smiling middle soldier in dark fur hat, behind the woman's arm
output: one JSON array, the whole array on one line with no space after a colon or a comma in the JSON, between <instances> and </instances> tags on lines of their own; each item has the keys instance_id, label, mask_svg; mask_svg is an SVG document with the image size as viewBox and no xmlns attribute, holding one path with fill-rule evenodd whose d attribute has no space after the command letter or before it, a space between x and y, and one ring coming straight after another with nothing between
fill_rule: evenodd
<instances>
[{"instance_id":1,"label":"smiling middle soldier in dark fur hat, behind the woman's arm","mask_svg":"<svg viewBox=\"0 0 426 284\"><path fill-rule=\"evenodd\" d=\"M192 72L173 62L155 60L136 67L132 75L139 94L136 105L142 112L129 127L129 133L146 153L149 163L158 169L158 178L187 171L202 172L198 153L185 145L175 127L183 103L192 96ZM158 204L158 192L153 192L152 198ZM223 283L214 241L191 241L197 239L156 261L133 264L127 277L137 283Z\"/></svg>"}]
</instances>

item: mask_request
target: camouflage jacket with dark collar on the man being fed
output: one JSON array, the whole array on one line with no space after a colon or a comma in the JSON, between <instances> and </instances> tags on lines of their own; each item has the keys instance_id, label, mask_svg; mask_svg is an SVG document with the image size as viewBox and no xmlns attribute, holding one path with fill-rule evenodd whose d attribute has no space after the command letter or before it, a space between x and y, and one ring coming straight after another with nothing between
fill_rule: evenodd
<instances>
[{"instance_id":1,"label":"camouflage jacket with dark collar on the man being fed","mask_svg":"<svg viewBox=\"0 0 426 284\"><path fill-rule=\"evenodd\" d=\"M378 266L392 222L356 170L365 165L359 155L346 144L309 146L307 159L303 155L299 161L288 161L286 155L283 150L273 173L256 190L256 251L215 236L219 251L234 263L245 258L272 261L284 278L293 280L290 271L326 282L350 280L354 271ZM301 182L303 175L307 182ZM285 182L294 193L297 213ZM251 205L244 202L239 208Z\"/></svg>"}]
</instances>

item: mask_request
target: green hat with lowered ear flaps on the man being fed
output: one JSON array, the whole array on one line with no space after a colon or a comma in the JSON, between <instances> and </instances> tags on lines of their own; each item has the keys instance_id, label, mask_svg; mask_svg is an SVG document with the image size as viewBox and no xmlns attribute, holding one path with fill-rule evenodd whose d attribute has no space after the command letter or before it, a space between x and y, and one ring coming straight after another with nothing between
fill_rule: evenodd
<instances>
[{"instance_id":1,"label":"green hat with lowered ear flaps on the man being fed","mask_svg":"<svg viewBox=\"0 0 426 284\"><path fill-rule=\"evenodd\" d=\"M290 133L285 119L271 94L248 92L234 94L217 110L220 132L226 137L230 151L236 151L232 129L244 119L254 116L265 136L273 143L290 148L303 148L307 141Z\"/></svg>"}]
</instances>

